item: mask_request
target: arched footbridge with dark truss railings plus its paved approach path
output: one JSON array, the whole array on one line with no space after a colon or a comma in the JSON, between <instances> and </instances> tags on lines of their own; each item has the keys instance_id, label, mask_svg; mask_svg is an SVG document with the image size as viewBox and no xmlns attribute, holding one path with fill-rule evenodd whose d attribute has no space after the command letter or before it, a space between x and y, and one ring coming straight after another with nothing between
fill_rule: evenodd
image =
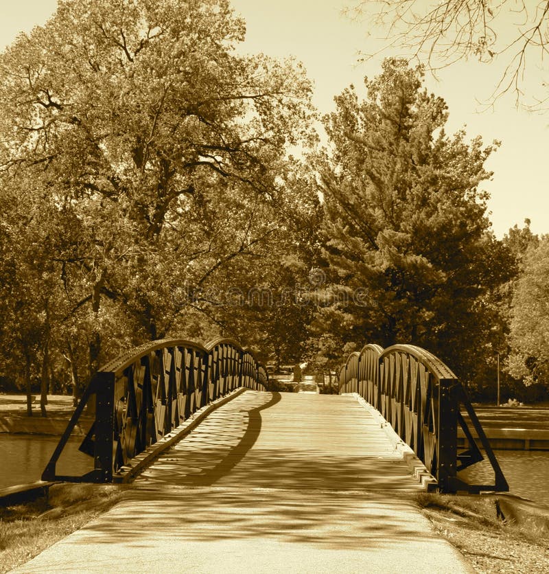
<instances>
[{"instance_id":1,"label":"arched footbridge with dark truss railings plus its paved approach path","mask_svg":"<svg viewBox=\"0 0 549 574\"><path fill-rule=\"evenodd\" d=\"M157 341L106 365L43 479L132 487L16 572L117 572L128 561L151 572L471 571L414 504L426 487L507 488L443 363L410 345L366 345L344 363L340 395L268 384L228 340ZM460 479L484 456L465 412L493 484ZM82 476L64 468L71 448L91 460Z\"/></svg>"}]
</instances>

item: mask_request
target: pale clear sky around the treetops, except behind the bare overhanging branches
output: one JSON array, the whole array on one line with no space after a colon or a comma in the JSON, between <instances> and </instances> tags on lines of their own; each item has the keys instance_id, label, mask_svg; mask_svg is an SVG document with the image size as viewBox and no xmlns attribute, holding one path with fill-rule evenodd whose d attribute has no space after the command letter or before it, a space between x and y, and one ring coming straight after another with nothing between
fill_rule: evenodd
<instances>
[{"instance_id":1,"label":"pale clear sky around the treetops, except behind the bare overhanging branches","mask_svg":"<svg viewBox=\"0 0 549 574\"><path fill-rule=\"evenodd\" d=\"M246 20L246 41L241 51L269 56L294 56L301 60L314 81L314 104L321 113L334 109L334 95L349 84L362 87L364 76L381 71L387 54L360 62L360 52L371 53L382 43L380 31L367 21L351 21L342 8L352 0L232 0L236 12ZM20 31L45 23L56 0L0 0L0 49ZM540 80L538 69L530 80ZM481 135L484 143L494 139L502 146L487 161L494 172L482 189L491 194L490 219L493 231L502 238L510 227L531 220L534 233L549 233L549 112L530 113L517 109L513 97L503 98L492 108L484 102L491 94L498 70L475 60L445 69L435 80L428 75L430 91L444 97L449 106L447 132L465 128L467 137Z\"/></svg>"}]
</instances>

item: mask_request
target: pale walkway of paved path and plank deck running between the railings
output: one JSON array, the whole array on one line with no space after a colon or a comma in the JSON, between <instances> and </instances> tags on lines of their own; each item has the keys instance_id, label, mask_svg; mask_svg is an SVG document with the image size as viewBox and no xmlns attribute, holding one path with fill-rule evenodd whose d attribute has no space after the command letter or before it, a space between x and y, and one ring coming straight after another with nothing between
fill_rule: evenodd
<instances>
[{"instance_id":1,"label":"pale walkway of paved path and plank deck running between the railings","mask_svg":"<svg viewBox=\"0 0 549 574\"><path fill-rule=\"evenodd\" d=\"M17 573L461 573L355 398L246 391Z\"/></svg>"}]
</instances>

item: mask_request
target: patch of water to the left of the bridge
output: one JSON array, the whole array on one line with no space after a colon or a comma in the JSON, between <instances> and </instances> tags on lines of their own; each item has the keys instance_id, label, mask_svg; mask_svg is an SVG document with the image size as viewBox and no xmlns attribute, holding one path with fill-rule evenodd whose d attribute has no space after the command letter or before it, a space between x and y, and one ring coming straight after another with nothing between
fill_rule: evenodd
<instances>
[{"instance_id":1,"label":"patch of water to the left of the bridge","mask_svg":"<svg viewBox=\"0 0 549 574\"><path fill-rule=\"evenodd\" d=\"M0 434L0 488L39 481L59 439L42 435ZM93 458L78 452L81 440L69 441L63 468L58 468L58 472L80 475L91 470Z\"/></svg>"}]
</instances>

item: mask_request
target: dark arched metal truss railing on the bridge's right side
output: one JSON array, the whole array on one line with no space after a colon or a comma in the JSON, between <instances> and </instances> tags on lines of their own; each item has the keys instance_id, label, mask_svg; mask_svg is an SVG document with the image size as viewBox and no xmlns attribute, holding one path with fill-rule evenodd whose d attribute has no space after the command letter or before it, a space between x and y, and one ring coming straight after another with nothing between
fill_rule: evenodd
<instances>
[{"instance_id":1,"label":"dark arched metal truss railing on the bridge's right side","mask_svg":"<svg viewBox=\"0 0 549 574\"><path fill-rule=\"evenodd\" d=\"M436 356L414 345L366 345L339 373L339 392L358 393L375 407L423 461L441 492L507 491L509 486L462 384ZM493 485L471 485L457 472L484 459L464 409L494 472ZM458 425L467 446L458 452Z\"/></svg>"}]
</instances>

